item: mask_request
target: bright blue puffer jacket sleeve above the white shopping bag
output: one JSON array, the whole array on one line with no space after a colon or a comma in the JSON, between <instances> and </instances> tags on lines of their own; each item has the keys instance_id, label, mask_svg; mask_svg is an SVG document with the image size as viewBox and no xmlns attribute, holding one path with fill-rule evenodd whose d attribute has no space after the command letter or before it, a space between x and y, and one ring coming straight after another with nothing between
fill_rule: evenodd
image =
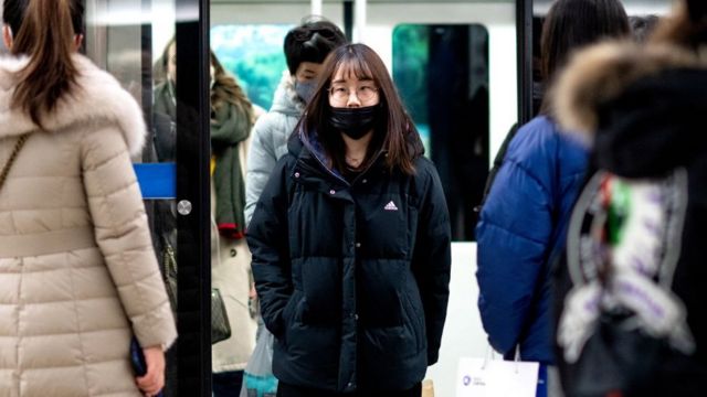
<instances>
[{"instance_id":1,"label":"bright blue puffer jacket sleeve above the white shopping bag","mask_svg":"<svg viewBox=\"0 0 707 397\"><path fill-rule=\"evenodd\" d=\"M476 227L478 309L490 345L503 354L514 350L527 326L552 234L552 195L547 175L538 176L528 165L534 162L524 161L524 154L532 154L511 150Z\"/></svg>"}]
</instances>

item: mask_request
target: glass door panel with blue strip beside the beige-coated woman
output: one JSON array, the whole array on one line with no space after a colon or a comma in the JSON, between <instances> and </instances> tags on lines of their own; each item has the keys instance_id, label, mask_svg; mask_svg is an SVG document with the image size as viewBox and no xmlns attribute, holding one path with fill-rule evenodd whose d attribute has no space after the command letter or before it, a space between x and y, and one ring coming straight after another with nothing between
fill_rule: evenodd
<instances>
[{"instance_id":1,"label":"glass door panel with blue strip beside the beige-coated woman","mask_svg":"<svg viewBox=\"0 0 707 397\"><path fill-rule=\"evenodd\" d=\"M176 311L176 93L165 78L161 62L175 35L175 9L173 0L87 0L85 46L86 54L133 94L146 115L147 143L134 162ZM159 19L152 19L158 14ZM175 345L166 355L166 397L178 396L177 354Z\"/></svg>"}]
</instances>

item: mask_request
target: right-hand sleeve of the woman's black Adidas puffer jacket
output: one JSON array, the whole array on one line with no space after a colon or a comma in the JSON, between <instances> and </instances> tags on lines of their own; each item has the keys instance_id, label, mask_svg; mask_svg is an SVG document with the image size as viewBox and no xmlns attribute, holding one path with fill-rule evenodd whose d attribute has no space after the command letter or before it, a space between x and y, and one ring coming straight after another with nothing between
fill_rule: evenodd
<instances>
[{"instance_id":1,"label":"right-hand sleeve of the woman's black Adidas puffer jacket","mask_svg":"<svg viewBox=\"0 0 707 397\"><path fill-rule=\"evenodd\" d=\"M421 197L412 270L424 309L428 365L432 365L437 362L450 297L452 232L440 178L432 164L426 171L429 178Z\"/></svg>"}]
</instances>

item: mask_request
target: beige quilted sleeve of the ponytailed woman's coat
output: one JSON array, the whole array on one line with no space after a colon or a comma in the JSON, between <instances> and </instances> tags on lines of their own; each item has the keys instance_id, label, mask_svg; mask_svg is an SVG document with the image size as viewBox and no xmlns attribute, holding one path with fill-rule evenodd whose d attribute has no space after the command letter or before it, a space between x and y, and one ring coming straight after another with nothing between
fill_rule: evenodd
<instances>
[{"instance_id":1,"label":"beige quilted sleeve of the ponytailed woman's coat","mask_svg":"<svg viewBox=\"0 0 707 397\"><path fill-rule=\"evenodd\" d=\"M133 331L141 346L169 346L177 330L123 135L104 126L86 133L81 144L96 242Z\"/></svg>"}]
</instances>

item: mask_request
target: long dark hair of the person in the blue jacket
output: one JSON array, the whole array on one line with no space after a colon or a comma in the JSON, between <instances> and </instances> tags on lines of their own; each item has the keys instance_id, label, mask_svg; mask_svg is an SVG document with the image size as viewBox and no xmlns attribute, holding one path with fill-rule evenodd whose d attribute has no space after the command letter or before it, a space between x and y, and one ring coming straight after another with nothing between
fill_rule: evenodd
<instances>
[{"instance_id":1,"label":"long dark hair of the person in the blue jacket","mask_svg":"<svg viewBox=\"0 0 707 397\"><path fill-rule=\"evenodd\" d=\"M619 0L556 1L545 18L540 37L546 86L552 85L557 71L577 50L603 39L627 37L630 33L629 17ZM550 103L544 100L540 112L551 112Z\"/></svg>"}]
</instances>

